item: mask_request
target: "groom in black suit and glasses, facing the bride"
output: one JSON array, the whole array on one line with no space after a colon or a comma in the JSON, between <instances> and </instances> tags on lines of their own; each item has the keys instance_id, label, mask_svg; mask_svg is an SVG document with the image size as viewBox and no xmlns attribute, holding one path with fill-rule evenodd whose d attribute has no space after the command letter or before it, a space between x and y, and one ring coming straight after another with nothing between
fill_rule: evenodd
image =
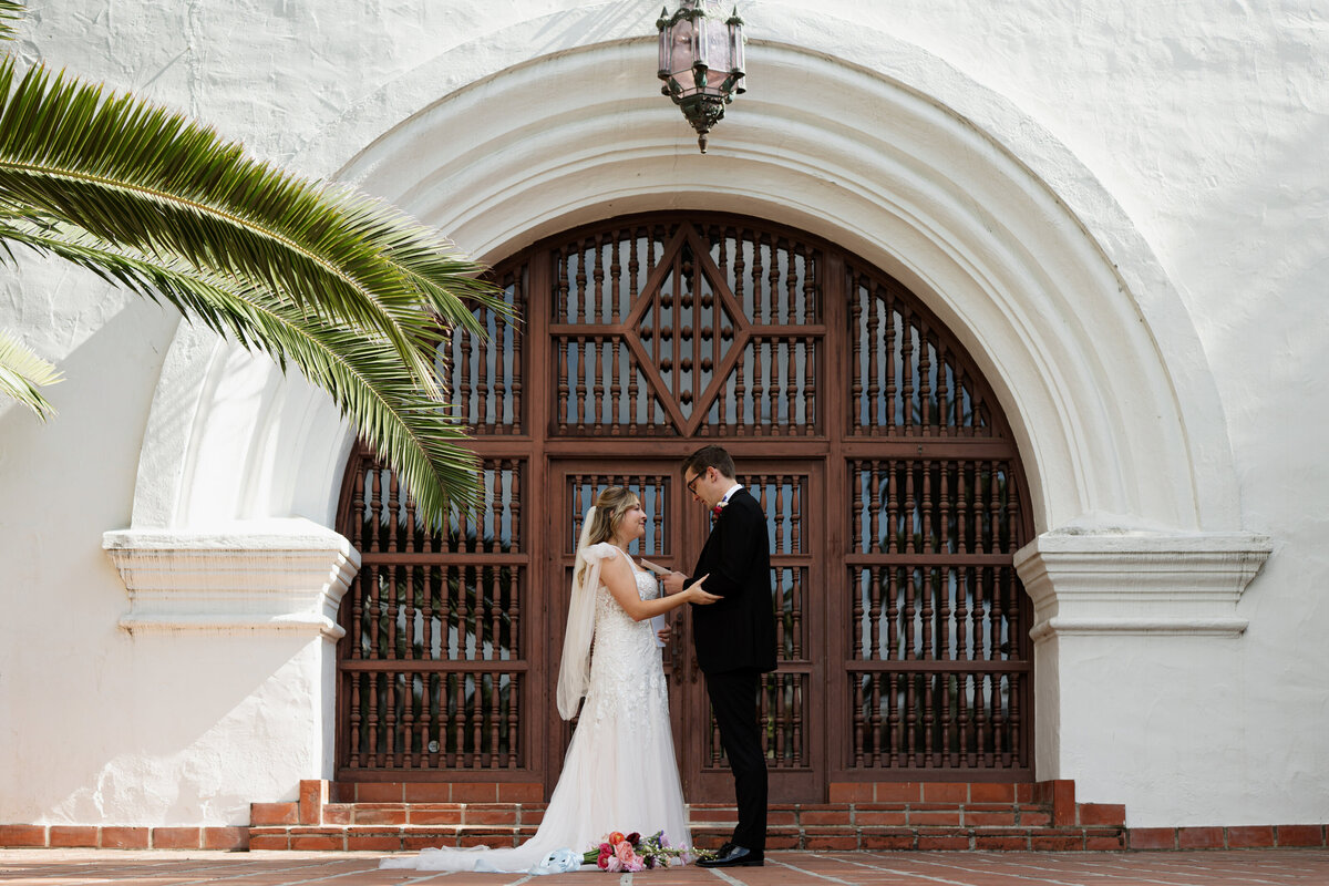
<instances>
[{"instance_id":1,"label":"groom in black suit and glasses, facing the bride","mask_svg":"<svg viewBox=\"0 0 1329 886\"><path fill-rule=\"evenodd\" d=\"M706 446L683 462L683 481L714 515L711 535L694 575L722 599L692 607L692 644L706 675L706 691L734 770L739 824L716 858L703 867L759 866L766 853L766 753L758 723L762 673L775 669L775 612L771 604L771 550L762 505L738 484L734 460ZM682 573L664 578L678 594L695 582Z\"/></svg>"}]
</instances>

